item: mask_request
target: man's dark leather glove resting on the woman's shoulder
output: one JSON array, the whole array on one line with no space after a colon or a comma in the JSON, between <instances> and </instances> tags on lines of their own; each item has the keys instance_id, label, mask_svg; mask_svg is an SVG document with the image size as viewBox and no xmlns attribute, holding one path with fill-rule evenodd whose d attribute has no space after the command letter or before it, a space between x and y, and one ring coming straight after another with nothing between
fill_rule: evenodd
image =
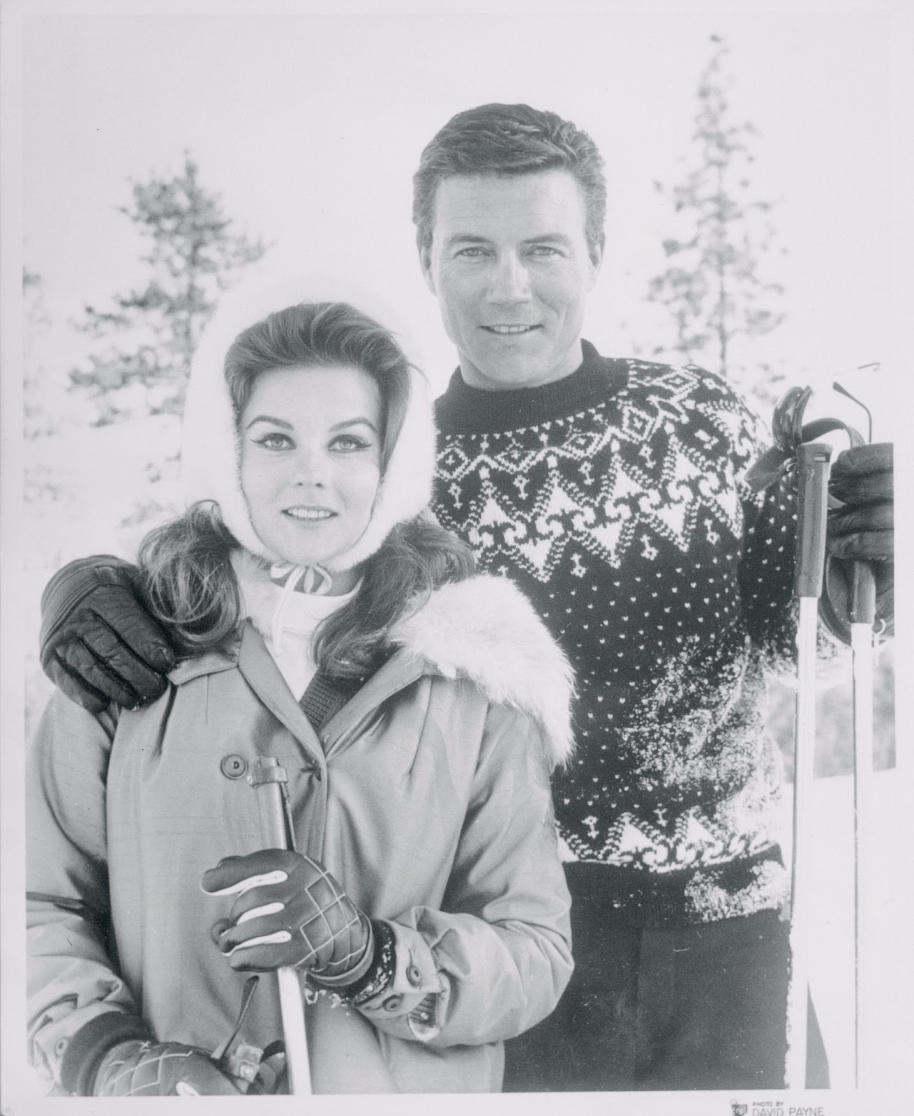
<instances>
[{"instance_id":1,"label":"man's dark leather glove resting on the woman's shoulder","mask_svg":"<svg viewBox=\"0 0 914 1116\"><path fill-rule=\"evenodd\" d=\"M41 666L92 713L136 709L165 691L174 652L148 615L136 569L110 555L59 569L41 596Z\"/></svg>"}]
</instances>

